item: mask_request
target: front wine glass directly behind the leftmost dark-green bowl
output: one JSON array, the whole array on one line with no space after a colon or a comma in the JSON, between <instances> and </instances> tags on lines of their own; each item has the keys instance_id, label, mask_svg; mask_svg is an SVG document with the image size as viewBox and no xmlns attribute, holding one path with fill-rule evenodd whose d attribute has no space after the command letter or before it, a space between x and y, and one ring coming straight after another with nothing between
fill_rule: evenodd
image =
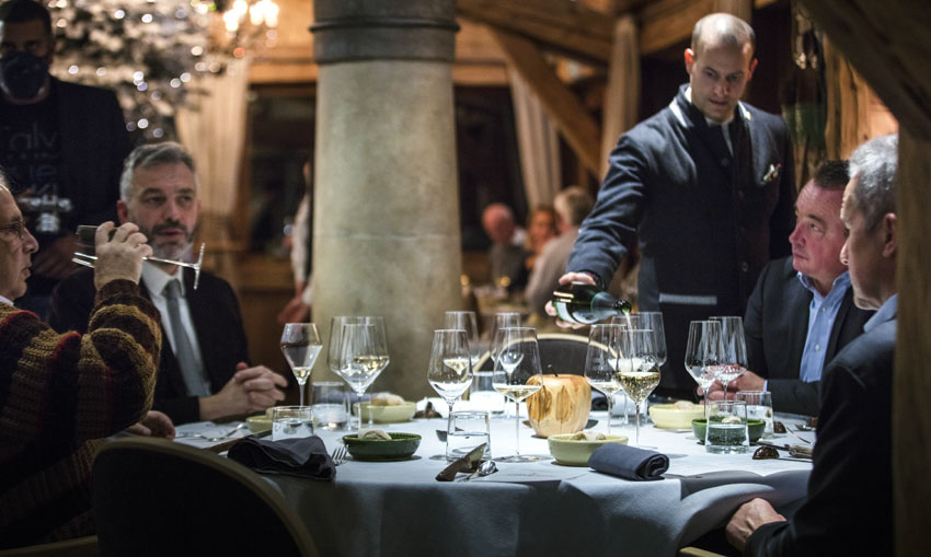
<instances>
[{"instance_id":1,"label":"front wine glass directly behind the leftmost dark-green bowl","mask_svg":"<svg viewBox=\"0 0 931 557\"><path fill-rule=\"evenodd\" d=\"M361 397L388 367L388 341L381 317L361 317L344 322L338 341L336 373L359 398L359 429L363 427ZM332 347L332 344L331 344Z\"/></svg>"}]
</instances>

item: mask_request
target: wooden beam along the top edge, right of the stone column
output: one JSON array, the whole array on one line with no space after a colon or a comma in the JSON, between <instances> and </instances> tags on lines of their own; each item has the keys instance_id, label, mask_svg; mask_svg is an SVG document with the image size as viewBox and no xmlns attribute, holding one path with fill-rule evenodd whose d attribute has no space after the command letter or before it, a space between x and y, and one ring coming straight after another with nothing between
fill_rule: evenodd
<instances>
[{"instance_id":1,"label":"wooden beam along the top edge, right of the stone column","mask_svg":"<svg viewBox=\"0 0 931 557\"><path fill-rule=\"evenodd\" d=\"M607 65L613 18L571 0L457 0L459 15L530 38L572 58Z\"/></svg>"}]
</instances>

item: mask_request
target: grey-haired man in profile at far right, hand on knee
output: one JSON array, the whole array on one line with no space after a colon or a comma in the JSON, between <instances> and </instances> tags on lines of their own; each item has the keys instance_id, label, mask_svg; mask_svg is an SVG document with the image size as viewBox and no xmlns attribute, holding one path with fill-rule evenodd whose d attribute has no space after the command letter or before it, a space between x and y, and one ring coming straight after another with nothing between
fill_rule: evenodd
<instances>
[{"instance_id":1,"label":"grey-haired man in profile at far right, hand on knee","mask_svg":"<svg viewBox=\"0 0 931 557\"><path fill-rule=\"evenodd\" d=\"M763 499L744 503L725 531L748 556L895 555L892 417L897 285L896 136L850 158L841 220L853 303L876 310L864 333L825 369L814 467L805 503L786 521Z\"/></svg>"}]
</instances>

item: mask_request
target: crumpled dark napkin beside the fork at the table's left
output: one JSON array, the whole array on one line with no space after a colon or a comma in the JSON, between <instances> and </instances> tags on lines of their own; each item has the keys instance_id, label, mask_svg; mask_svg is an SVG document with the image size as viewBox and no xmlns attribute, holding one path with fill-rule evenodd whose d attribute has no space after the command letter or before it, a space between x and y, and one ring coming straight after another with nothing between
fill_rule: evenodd
<instances>
[{"instance_id":1,"label":"crumpled dark napkin beside the fork at the table's left","mask_svg":"<svg viewBox=\"0 0 931 557\"><path fill-rule=\"evenodd\" d=\"M232 445L227 456L263 474L325 480L336 476L336 466L317 436L279 441L246 437Z\"/></svg>"}]
</instances>

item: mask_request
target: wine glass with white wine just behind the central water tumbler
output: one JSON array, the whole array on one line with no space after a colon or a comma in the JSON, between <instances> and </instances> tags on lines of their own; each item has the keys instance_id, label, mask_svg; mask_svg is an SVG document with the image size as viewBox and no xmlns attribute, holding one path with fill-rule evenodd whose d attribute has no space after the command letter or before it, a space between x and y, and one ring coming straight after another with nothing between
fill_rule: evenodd
<instances>
[{"instance_id":1,"label":"wine glass with white wine just behind the central water tumbler","mask_svg":"<svg viewBox=\"0 0 931 557\"><path fill-rule=\"evenodd\" d=\"M449 405L446 431L451 431L452 406L472 384L469 339L462 329L438 329L433 333L427 381ZM448 438L447 438L448 439ZM447 451L449 454L449 451Z\"/></svg>"}]
</instances>

